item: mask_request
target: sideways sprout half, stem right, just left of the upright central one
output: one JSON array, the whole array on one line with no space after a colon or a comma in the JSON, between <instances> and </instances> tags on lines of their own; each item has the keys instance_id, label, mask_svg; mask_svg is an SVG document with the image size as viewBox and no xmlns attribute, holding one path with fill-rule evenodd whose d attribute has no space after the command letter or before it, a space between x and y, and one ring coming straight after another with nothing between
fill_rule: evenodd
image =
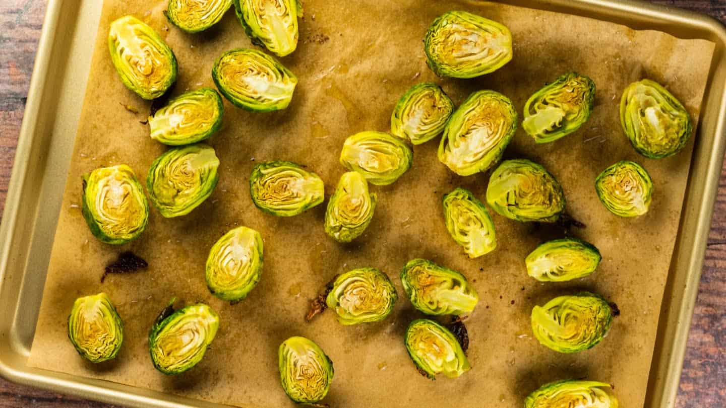
<instances>
[{"instance_id":1,"label":"sideways sprout half, stem right, just left of the upright central one","mask_svg":"<svg viewBox=\"0 0 726 408\"><path fill-rule=\"evenodd\" d=\"M325 184L317 174L289 161L255 166L250 194L257 208L274 216L291 217L322 203Z\"/></svg>"}]
</instances>

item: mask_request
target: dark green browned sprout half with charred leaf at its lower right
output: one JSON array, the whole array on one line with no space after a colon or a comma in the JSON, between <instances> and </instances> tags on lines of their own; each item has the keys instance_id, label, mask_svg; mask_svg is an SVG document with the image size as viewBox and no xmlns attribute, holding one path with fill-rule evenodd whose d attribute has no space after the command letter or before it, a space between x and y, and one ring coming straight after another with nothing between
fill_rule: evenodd
<instances>
[{"instance_id":1,"label":"dark green browned sprout half with charred leaf at its lower right","mask_svg":"<svg viewBox=\"0 0 726 408\"><path fill-rule=\"evenodd\" d=\"M505 160L489 178L486 203L515 221L555 222L565 211L565 195L555 177L526 159Z\"/></svg>"}]
</instances>

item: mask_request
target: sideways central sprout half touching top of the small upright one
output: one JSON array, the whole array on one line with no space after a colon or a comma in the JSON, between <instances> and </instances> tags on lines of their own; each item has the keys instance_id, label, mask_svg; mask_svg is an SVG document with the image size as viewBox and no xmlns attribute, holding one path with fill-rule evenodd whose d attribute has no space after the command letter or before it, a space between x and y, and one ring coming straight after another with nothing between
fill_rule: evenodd
<instances>
[{"instance_id":1,"label":"sideways central sprout half touching top of the small upright one","mask_svg":"<svg viewBox=\"0 0 726 408\"><path fill-rule=\"evenodd\" d=\"M340 151L340 164L377 186L398 180L411 168L412 161L413 150L406 141L380 131L348 136Z\"/></svg>"}]
</instances>

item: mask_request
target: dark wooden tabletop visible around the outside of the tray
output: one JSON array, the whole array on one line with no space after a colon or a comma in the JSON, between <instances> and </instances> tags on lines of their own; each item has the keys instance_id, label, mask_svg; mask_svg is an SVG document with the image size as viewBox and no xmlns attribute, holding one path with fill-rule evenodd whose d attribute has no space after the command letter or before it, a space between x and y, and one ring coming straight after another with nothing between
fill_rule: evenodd
<instances>
[{"instance_id":1,"label":"dark wooden tabletop visible around the outside of the tray","mask_svg":"<svg viewBox=\"0 0 726 408\"><path fill-rule=\"evenodd\" d=\"M693 9L726 23L726 0L652 1ZM0 0L0 212L7 194L45 8L46 0ZM726 166L719 186L678 393L679 408L726 407ZM0 408L31 406L109 407L15 385L0 378Z\"/></svg>"}]
</instances>

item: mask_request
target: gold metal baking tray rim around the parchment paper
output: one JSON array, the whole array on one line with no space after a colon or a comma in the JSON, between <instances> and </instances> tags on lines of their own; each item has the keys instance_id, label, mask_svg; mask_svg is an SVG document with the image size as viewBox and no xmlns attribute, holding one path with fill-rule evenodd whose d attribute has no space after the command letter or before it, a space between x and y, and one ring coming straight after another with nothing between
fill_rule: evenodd
<instances>
[{"instance_id":1,"label":"gold metal baking tray rim around the parchment paper","mask_svg":"<svg viewBox=\"0 0 726 408\"><path fill-rule=\"evenodd\" d=\"M666 284L645 407L673 407L726 143L726 30L693 12L625 0L505 0L716 44L680 229ZM132 407L220 407L28 367L102 1L49 0L0 225L0 375Z\"/></svg>"}]
</instances>

